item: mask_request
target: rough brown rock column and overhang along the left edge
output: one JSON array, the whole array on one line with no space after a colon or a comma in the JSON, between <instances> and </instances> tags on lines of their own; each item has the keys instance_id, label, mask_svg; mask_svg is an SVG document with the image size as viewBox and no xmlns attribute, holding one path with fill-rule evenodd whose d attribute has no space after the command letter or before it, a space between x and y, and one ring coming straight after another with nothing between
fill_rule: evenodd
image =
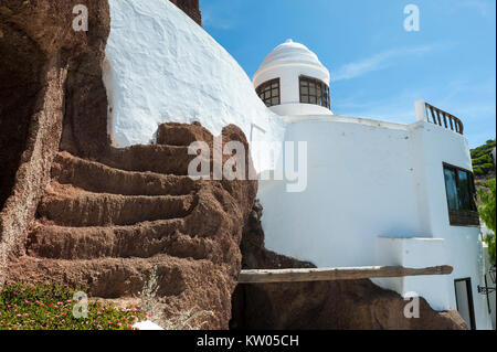
<instances>
[{"instance_id":1,"label":"rough brown rock column and overhang along the left edge","mask_svg":"<svg viewBox=\"0 0 497 352\"><path fill-rule=\"evenodd\" d=\"M89 32L73 30L75 4L87 6ZM106 143L108 31L106 0L0 1L0 286L50 180L63 118L73 149Z\"/></svg>"}]
</instances>

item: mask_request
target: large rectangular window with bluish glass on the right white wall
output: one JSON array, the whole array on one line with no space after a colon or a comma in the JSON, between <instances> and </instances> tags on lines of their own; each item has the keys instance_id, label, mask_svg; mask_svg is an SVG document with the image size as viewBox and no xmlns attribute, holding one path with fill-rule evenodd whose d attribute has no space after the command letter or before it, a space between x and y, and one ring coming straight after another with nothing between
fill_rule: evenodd
<instances>
[{"instance_id":1,"label":"large rectangular window with bluish glass on the right white wall","mask_svg":"<svg viewBox=\"0 0 497 352\"><path fill-rule=\"evenodd\" d=\"M448 217L453 226L479 226L475 180L470 171L444 163Z\"/></svg>"}]
</instances>

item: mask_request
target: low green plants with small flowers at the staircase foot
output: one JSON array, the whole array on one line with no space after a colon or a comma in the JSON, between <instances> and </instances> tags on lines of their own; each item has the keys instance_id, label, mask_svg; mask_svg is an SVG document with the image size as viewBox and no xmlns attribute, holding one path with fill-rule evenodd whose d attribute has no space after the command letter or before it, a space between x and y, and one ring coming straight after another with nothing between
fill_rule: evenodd
<instances>
[{"instance_id":1,"label":"low green plants with small flowers at the staircase foot","mask_svg":"<svg viewBox=\"0 0 497 352\"><path fill-rule=\"evenodd\" d=\"M137 309L99 300L87 302L87 318L74 318L76 291L57 285L6 285L0 295L0 330L133 330L146 318Z\"/></svg>"}]
</instances>

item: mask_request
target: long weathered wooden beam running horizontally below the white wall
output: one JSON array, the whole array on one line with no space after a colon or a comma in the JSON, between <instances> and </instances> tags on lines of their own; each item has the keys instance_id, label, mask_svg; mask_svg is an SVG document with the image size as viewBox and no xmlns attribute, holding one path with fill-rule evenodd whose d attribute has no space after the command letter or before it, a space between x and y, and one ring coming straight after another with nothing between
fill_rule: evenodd
<instances>
[{"instance_id":1,"label":"long weathered wooden beam running horizontally below the white wall","mask_svg":"<svg viewBox=\"0 0 497 352\"><path fill-rule=\"evenodd\" d=\"M404 268L401 266L371 266L357 268L311 268L281 270L242 270L239 284L309 282L334 280L360 280L370 278L405 277L423 275L448 275L448 265L427 268Z\"/></svg>"}]
</instances>

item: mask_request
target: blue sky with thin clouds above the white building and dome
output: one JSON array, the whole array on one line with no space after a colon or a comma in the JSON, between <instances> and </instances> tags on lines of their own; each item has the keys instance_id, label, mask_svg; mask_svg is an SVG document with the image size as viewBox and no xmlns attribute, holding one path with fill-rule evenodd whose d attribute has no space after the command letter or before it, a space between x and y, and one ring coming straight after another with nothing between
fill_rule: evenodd
<instances>
[{"instance_id":1,"label":"blue sky with thin clouds above the white building and dome","mask_svg":"<svg viewBox=\"0 0 497 352\"><path fill-rule=\"evenodd\" d=\"M495 0L200 0L205 30L250 77L286 39L331 72L336 114L415 120L424 99L459 117L470 147L495 138ZM406 32L404 7L420 9Z\"/></svg>"}]
</instances>

